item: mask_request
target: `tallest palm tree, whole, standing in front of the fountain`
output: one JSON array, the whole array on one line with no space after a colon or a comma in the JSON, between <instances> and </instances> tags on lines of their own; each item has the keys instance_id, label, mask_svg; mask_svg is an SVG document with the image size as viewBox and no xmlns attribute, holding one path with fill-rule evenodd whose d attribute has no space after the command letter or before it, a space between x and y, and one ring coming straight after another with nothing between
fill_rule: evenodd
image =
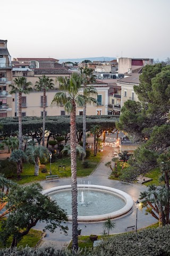
<instances>
[{"instance_id":1,"label":"tallest palm tree, whole, standing in front of the fountain","mask_svg":"<svg viewBox=\"0 0 170 256\"><path fill-rule=\"evenodd\" d=\"M65 111L70 113L70 148L71 148L71 179L72 179L72 250L78 250L78 188L77 188L77 162L76 162L76 105L83 106L84 96L79 93L81 77L73 73L71 78L58 77L62 92L55 94L52 105L64 105Z\"/></svg>"}]
</instances>

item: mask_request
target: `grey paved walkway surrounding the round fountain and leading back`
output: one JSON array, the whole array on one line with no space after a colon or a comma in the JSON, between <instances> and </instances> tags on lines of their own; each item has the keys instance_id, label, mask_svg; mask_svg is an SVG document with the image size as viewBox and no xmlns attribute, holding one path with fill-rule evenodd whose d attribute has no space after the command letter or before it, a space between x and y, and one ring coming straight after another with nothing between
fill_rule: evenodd
<instances>
[{"instance_id":1,"label":"grey paved walkway surrounding the round fountain and leading back","mask_svg":"<svg viewBox=\"0 0 170 256\"><path fill-rule=\"evenodd\" d=\"M106 150L111 150L111 147L107 147ZM90 181L91 185L101 185L120 189L131 195L134 202L137 201L137 199L139 199L140 192L145 191L147 188L143 185L131 185L116 180L109 180L108 176L111 173L111 170L105 166L105 163L111 161L112 158L112 152L108 151L101 163L97 166L96 170L89 177L78 178L78 182L88 184L88 181ZM69 178L59 179L58 181L42 181L40 183L44 189L47 189L56 186L71 185L71 179ZM137 209L134 204L133 211L130 214L126 215L123 218L115 219L114 222L116 223L116 228L112 232L122 233L128 226L134 226L136 221L136 210ZM143 212L138 211L138 229L149 226L150 224L155 222L156 219L153 218L150 214L145 215L144 210ZM43 230L44 226L44 223L37 223L36 229ZM64 242L69 242L72 238L72 224L67 223L67 226L69 227L69 232L67 236L61 234L60 230L57 229L56 233L50 233L49 231L47 231L47 236L44 238L45 244L47 245L49 243L54 243L54 241L57 241L57 246L62 247ZM103 222L79 223L79 227L82 229L81 235L103 233Z\"/></svg>"}]
</instances>

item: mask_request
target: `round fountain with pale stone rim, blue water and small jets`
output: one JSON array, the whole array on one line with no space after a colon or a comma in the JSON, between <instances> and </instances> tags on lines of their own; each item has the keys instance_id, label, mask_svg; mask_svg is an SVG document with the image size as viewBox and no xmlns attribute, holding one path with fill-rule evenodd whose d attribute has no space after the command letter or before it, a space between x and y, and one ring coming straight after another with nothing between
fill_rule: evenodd
<instances>
[{"instance_id":1,"label":"round fountain with pale stone rim, blue water and small jets","mask_svg":"<svg viewBox=\"0 0 170 256\"><path fill-rule=\"evenodd\" d=\"M71 185L49 188L43 194L52 197L72 220ZM103 221L123 217L131 212L133 199L115 188L98 185L78 185L78 221Z\"/></svg>"}]
</instances>

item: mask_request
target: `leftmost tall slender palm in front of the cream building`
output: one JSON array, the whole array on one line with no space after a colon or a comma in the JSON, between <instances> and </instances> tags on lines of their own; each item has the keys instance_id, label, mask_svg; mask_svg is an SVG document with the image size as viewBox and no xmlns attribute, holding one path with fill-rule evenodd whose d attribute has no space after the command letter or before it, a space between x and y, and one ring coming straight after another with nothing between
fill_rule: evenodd
<instances>
[{"instance_id":1,"label":"leftmost tall slender palm in front of the cream building","mask_svg":"<svg viewBox=\"0 0 170 256\"><path fill-rule=\"evenodd\" d=\"M11 87L10 93L19 93L18 97L18 122L19 122L19 149L22 150L22 93L29 94L32 91L31 82L27 82L26 77L18 77L14 79L14 84L9 84Z\"/></svg>"}]
</instances>

